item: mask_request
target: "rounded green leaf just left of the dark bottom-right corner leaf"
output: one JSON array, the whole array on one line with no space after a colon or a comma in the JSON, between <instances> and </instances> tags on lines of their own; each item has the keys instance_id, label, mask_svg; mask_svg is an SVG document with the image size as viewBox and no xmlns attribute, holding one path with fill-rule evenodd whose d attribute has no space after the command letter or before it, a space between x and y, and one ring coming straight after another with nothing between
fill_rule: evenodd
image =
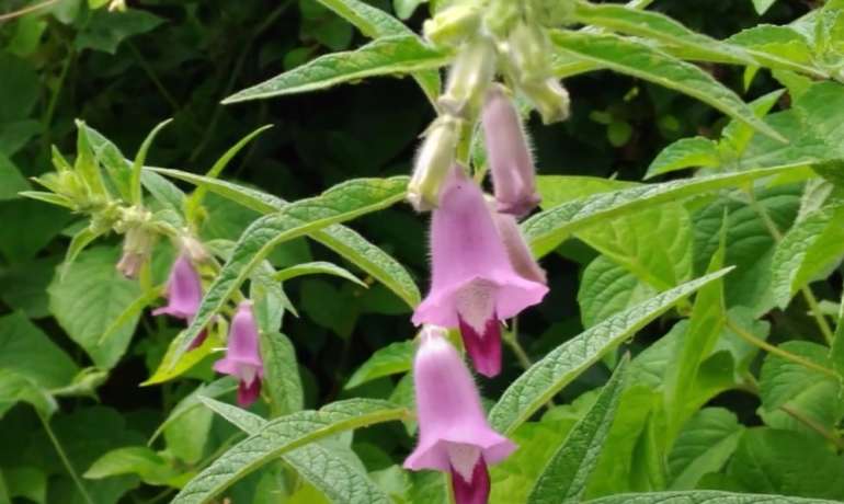
<instances>
[{"instance_id":1,"label":"rounded green leaf just left of the dark bottom-right corner leaf","mask_svg":"<svg viewBox=\"0 0 844 504\"><path fill-rule=\"evenodd\" d=\"M744 432L735 414L705 408L683 426L669 455L671 490L694 490L708 472L720 471Z\"/></svg>"}]
</instances>

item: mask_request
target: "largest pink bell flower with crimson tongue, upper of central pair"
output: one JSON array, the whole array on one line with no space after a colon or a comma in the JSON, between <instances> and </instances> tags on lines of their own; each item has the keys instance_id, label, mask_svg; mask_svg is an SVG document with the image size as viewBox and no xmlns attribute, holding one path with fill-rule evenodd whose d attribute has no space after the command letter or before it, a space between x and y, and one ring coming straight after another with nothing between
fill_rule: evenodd
<instances>
[{"instance_id":1,"label":"largest pink bell flower with crimson tongue, upper of central pair","mask_svg":"<svg viewBox=\"0 0 844 504\"><path fill-rule=\"evenodd\" d=\"M500 320L541 301L548 287L513 267L480 187L455 165L431 220L431 290L413 323L460 328L475 368L501 370Z\"/></svg>"}]
</instances>

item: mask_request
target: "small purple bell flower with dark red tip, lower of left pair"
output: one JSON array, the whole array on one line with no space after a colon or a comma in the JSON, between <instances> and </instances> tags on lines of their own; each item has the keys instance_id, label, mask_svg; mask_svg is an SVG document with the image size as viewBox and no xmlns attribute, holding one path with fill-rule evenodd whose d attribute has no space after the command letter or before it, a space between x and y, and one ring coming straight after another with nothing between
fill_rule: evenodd
<instances>
[{"instance_id":1,"label":"small purple bell flower with dark red tip, lower of left pair","mask_svg":"<svg viewBox=\"0 0 844 504\"><path fill-rule=\"evenodd\" d=\"M261 393L264 365L259 350L258 325L252 314L252 301L238 305L231 319L226 356L214 363L214 369L237 377L238 404L248 406Z\"/></svg>"}]
</instances>

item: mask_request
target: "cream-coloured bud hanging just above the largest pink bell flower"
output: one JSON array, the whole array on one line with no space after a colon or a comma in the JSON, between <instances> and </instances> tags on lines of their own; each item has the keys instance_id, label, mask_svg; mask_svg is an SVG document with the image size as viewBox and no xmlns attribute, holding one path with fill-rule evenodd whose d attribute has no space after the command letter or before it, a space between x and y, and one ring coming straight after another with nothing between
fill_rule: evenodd
<instances>
[{"instance_id":1,"label":"cream-coloured bud hanging just above the largest pink bell flower","mask_svg":"<svg viewBox=\"0 0 844 504\"><path fill-rule=\"evenodd\" d=\"M440 188L454 164L459 139L460 121L455 117L440 116L427 128L417 154L413 177L408 184L408 202L417 211L436 207Z\"/></svg>"}]
</instances>

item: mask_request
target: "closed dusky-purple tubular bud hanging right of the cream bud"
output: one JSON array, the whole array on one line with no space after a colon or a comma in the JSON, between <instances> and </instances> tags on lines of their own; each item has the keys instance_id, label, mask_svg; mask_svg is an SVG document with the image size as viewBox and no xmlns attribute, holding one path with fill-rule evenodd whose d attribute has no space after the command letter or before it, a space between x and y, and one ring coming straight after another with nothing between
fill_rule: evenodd
<instances>
[{"instance_id":1,"label":"closed dusky-purple tubular bud hanging right of the cream bud","mask_svg":"<svg viewBox=\"0 0 844 504\"><path fill-rule=\"evenodd\" d=\"M497 208L517 217L526 215L540 201L534 160L518 111L501 84L487 91L482 122Z\"/></svg>"}]
</instances>

